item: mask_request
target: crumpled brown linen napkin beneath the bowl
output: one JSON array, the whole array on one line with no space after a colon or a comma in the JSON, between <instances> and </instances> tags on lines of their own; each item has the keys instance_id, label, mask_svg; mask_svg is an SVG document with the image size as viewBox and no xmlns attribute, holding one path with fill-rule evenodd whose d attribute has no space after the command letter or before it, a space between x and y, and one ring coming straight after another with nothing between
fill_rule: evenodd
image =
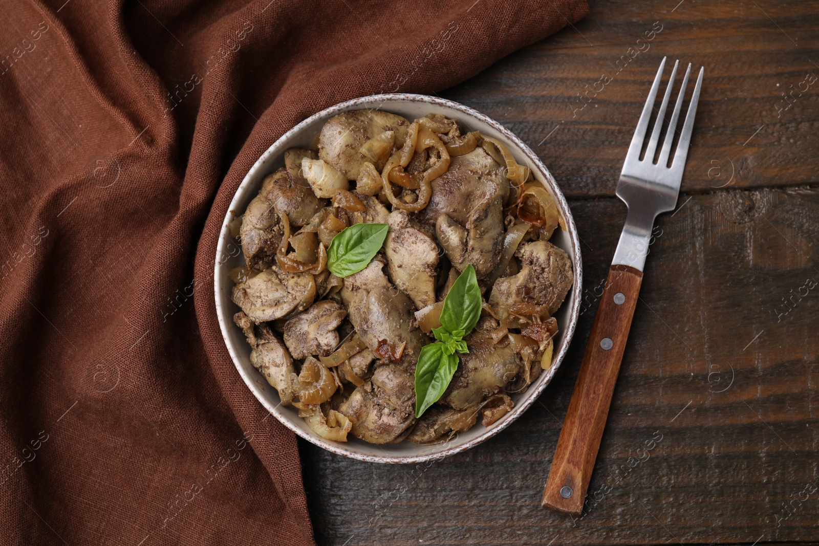
<instances>
[{"instance_id":1,"label":"crumpled brown linen napkin beneath the bowl","mask_svg":"<svg viewBox=\"0 0 819 546\"><path fill-rule=\"evenodd\" d=\"M0 542L314 544L296 438L244 386L215 318L233 192L325 106L433 93L586 12L0 7Z\"/></svg>"}]
</instances>

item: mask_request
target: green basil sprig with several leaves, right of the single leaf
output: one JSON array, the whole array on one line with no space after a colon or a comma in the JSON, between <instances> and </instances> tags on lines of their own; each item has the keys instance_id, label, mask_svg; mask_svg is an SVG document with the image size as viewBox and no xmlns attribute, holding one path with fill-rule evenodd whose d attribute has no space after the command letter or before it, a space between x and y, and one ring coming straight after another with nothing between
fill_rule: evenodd
<instances>
[{"instance_id":1,"label":"green basil sprig with several leaves, right of the single leaf","mask_svg":"<svg viewBox=\"0 0 819 546\"><path fill-rule=\"evenodd\" d=\"M458 368L458 353L468 353L464 336L481 318L481 289L469 264L450 288L441 309L441 327L433 328L438 341L424 345L415 365L415 417L435 404Z\"/></svg>"}]
</instances>

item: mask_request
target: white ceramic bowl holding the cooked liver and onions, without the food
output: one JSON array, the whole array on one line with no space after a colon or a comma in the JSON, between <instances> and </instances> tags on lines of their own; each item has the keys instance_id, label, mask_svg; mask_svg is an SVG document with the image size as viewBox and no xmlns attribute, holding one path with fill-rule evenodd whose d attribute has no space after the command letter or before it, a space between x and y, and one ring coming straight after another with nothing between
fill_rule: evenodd
<instances>
[{"instance_id":1,"label":"white ceramic bowl holding the cooked liver and onions, without the food","mask_svg":"<svg viewBox=\"0 0 819 546\"><path fill-rule=\"evenodd\" d=\"M283 152L292 147L310 147L316 134L321 130L325 121L344 111L361 110L364 108L379 109L393 114L403 115L408 120L414 120L430 112L443 114L448 118L459 121L462 129L469 131L479 130L486 136L497 138L504 142L509 150L518 160L518 163L527 165L534 172L536 178L545 183L546 189L554 196L555 202L566 219L568 231L556 230L551 242L566 250L572 258L574 268L574 286L569 291L566 300L554 316L558 320L559 333L554 340L554 356L552 367L538 377L532 386L523 394L512 395L514 409L507 413L500 420L489 428L477 422L475 426L466 432L461 432L449 441L436 445L417 445L408 441L400 444L369 444L364 440L359 440L352 435L347 442L334 442L324 440L316 435L307 426L305 420L298 417L297 410L292 407L283 407L279 404L278 393L269 386L260 372L253 368L250 363L251 348L247 345L247 340L242 331L233 323L233 314L239 308L230 299L233 289L233 282L228 277L231 268L244 264L241 252L238 251L238 241L230 236L228 224L236 216L244 213L247 204L256 196L261 186L262 178L266 174L273 172L283 165ZM219 259L219 258L222 259ZM457 102L447 101L438 97L427 97L425 95L411 95L405 93L391 93L385 95L373 95L371 97L356 98L351 101L342 102L336 106L331 106L327 110L320 111L312 115L293 129L284 133L282 138L274 142L273 146L256 161L247 176L239 186L233 201L230 204L229 212L225 215L222 230L219 232L219 243L216 248L215 261L215 297L216 314L219 315L219 326L222 328L224 343L227 345L233 363L236 364L239 374L251 390L253 395L261 402L267 410L274 414L284 426L300 435L305 440L328 449L333 453L346 457L357 458L362 461L373 463L423 463L432 459L439 459L459 453L473 445L480 444L483 440L502 431L511 422L517 419L521 413L534 403L537 397L549 384L554 372L557 371L563 356L568 350L569 342L572 340L577 317L580 314L580 294L582 286L582 265L580 258L580 243L577 237L577 229L572 219L572 213L568 209L566 200L554 178L541 163L541 160L532 152L526 144L513 133L505 129L501 124L489 119L472 108L460 105Z\"/></svg>"}]
</instances>

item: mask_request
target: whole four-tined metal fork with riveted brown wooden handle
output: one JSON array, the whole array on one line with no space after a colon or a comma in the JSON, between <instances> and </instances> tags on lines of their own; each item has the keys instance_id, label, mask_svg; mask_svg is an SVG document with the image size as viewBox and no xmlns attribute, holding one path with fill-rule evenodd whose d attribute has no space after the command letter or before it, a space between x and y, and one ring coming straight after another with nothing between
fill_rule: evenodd
<instances>
[{"instance_id":1,"label":"whole four-tined metal fork with riveted brown wooden handle","mask_svg":"<svg viewBox=\"0 0 819 546\"><path fill-rule=\"evenodd\" d=\"M543 506L558 512L572 515L580 515L582 512L597 451L600 449L600 439L603 436L606 418L609 416L609 405L620 371L623 350L626 348L631 318L634 316L640 294L645 256L649 250L654 219L658 214L674 209L680 192L704 68L699 69L686 121L682 125L672 164L668 166L676 123L680 117L691 72L690 63L682 79L671 120L668 120L668 129L658 160L655 162L654 157L657 156L663 120L666 120L668 99L671 97L680 61L674 63L654 129L645 148L645 156L640 159L654 101L660 81L663 79L665 61L666 58L663 57L622 165L617 196L628 206L626 224L622 229L617 250L614 251L603 294L600 296L600 305L591 327L586 352L583 354L566 420L560 431L549 480L543 492L541 501Z\"/></svg>"}]
</instances>

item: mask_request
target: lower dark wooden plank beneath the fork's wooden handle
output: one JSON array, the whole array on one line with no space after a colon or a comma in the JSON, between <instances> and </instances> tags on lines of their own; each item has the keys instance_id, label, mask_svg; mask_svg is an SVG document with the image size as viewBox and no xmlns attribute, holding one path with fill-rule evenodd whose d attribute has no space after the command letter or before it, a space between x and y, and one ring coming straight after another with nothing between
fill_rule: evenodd
<instances>
[{"instance_id":1,"label":"lower dark wooden plank beneath the fork's wooden handle","mask_svg":"<svg viewBox=\"0 0 819 546\"><path fill-rule=\"evenodd\" d=\"M658 219L590 483L599 502L576 520L540 499L625 207L614 198L571 206L589 305L539 403L430 467L360 463L302 442L319 544L816 539L819 490L807 484L819 485L819 285L790 308L782 298L819 281L819 189L683 197Z\"/></svg>"}]
</instances>

